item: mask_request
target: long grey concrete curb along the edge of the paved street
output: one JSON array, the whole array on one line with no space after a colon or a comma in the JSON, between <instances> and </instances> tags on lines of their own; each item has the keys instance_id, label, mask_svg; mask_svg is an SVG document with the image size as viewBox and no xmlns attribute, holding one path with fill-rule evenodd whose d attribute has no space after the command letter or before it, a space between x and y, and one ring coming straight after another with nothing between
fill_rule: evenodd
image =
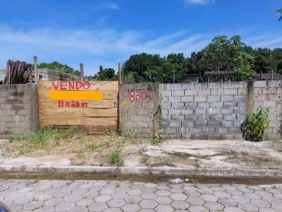
<instances>
[{"instance_id":1,"label":"long grey concrete curb along the edge of the paved street","mask_svg":"<svg viewBox=\"0 0 282 212\"><path fill-rule=\"evenodd\" d=\"M227 169L211 169L211 168L197 168L197 167L99 167L99 166L14 166L1 165L0 172L4 173L18 173L18 174L94 174L94 175L162 175L174 177L269 177L281 178L282 170L270 169L244 169L244 170L227 170Z\"/></svg>"}]
</instances>

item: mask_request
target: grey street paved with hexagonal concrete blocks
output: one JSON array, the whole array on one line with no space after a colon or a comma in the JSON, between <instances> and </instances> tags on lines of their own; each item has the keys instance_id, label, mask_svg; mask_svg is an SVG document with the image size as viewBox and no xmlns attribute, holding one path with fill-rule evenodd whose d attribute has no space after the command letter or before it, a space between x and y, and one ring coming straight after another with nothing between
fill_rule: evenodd
<instances>
[{"instance_id":1,"label":"grey street paved with hexagonal concrete blocks","mask_svg":"<svg viewBox=\"0 0 282 212\"><path fill-rule=\"evenodd\" d=\"M282 211L282 184L153 184L0 179L0 201L16 211Z\"/></svg>"}]
</instances>

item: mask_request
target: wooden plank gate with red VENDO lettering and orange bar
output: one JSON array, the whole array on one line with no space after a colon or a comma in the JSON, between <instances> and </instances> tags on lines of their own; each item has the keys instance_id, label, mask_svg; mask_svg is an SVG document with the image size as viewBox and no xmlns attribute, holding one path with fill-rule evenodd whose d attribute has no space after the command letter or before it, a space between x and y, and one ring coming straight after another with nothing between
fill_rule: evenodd
<instances>
[{"instance_id":1,"label":"wooden plank gate with red VENDO lettering and orange bar","mask_svg":"<svg viewBox=\"0 0 282 212\"><path fill-rule=\"evenodd\" d=\"M101 133L118 126L118 82L39 81L39 126Z\"/></svg>"}]
</instances>

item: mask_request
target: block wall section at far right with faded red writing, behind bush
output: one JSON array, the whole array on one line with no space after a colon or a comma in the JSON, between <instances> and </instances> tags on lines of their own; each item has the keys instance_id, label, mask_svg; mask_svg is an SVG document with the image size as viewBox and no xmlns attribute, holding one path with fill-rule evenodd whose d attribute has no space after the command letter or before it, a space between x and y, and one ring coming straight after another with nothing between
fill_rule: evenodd
<instances>
[{"instance_id":1,"label":"block wall section at far right with faded red writing, behind bush","mask_svg":"<svg viewBox=\"0 0 282 212\"><path fill-rule=\"evenodd\" d=\"M269 139L281 138L281 100L282 81L255 81L253 86L253 111L264 107L269 114L269 129L266 134Z\"/></svg>"}]
</instances>

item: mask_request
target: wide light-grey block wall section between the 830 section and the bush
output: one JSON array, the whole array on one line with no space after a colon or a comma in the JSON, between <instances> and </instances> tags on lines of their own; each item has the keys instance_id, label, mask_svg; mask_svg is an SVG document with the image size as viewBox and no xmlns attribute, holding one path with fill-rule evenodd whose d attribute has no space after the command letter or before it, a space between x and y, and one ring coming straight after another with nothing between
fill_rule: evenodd
<instances>
[{"instance_id":1,"label":"wide light-grey block wall section between the 830 section and the bush","mask_svg":"<svg viewBox=\"0 0 282 212\"><path fill-rule=\"evenodd\" d=\"M247 82L161 84L162 134L169 139L242 139Z\"/></svg>"}]
</instances>

